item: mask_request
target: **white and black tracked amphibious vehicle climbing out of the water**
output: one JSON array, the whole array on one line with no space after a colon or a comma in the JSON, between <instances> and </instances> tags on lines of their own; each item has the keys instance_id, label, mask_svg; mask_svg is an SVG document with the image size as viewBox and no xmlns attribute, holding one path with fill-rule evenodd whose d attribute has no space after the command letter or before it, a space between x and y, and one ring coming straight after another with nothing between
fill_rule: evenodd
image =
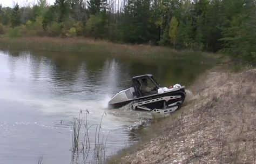
<instances>
[{"instance_id":1,"label":"white and black tracked amphibious vehicle climbing out of the water","mask_svg":"<svg viewBox=\"0 0 256 164\"><path fill-rule=\"evenodd\" d=\"M119 91L109 101L110 108L131 103L133 110L170 113L180 108L186 97L185 86L160 87L152 74L132 78L132 86Z\"/></svg>"}]
</instances>

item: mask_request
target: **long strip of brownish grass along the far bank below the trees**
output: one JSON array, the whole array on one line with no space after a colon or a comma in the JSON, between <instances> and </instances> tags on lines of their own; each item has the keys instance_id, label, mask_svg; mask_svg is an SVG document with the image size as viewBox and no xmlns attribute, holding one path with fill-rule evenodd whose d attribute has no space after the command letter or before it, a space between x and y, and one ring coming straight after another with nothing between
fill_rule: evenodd
<instances>
[{"instance_id":1,"label":"long strip of brownish grass along the far bank below the trees","mask_svg":"<svg viewBox=\"0 0 256 164\"><path fill-rule=\"evenodd\" d=\"M113 55L128 55L134 57L172 57L180 58L184 55L195 56L204 54L204 56L218 57L211 53L202 53L194 51L177 51L169 47L151 46L151 45L130 45L107 42L105 40L94 40L90 38L60 38L60 37L0 37L0 48L20 49L20 50L48 50L48 51L66 51L66 52L97 52L111 53Z\"/></svg>"}]
</instances>

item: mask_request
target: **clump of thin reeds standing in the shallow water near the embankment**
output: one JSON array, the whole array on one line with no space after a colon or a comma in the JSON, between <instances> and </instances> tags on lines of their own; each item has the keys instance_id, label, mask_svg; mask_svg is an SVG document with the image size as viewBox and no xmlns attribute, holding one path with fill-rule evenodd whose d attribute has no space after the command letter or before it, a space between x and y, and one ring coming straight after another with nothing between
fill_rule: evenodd
<instances>
[{"instance_id":1,"label":"clump of thin reeds standing in the shallow water near the embankment","mask_svg":"<svg viewBox=\"0 0 256 164\"><path fill-rule=\"evenodd\" d=\"M103 113L99 124L90 125L90 126L88 125L88 122L87 122L87 114L89 114L88 110L86 110L85 112L80 110L79 117L74 118L73 121L71 122L72 123L71 162L73 163L81 162L79 159L79 155L82 155L83 162L105 163L105 160L106 160L105 148L106 148L107 138L109 134L107 134L106 138L104 138L104 135L103 136L100 135L101 134L100 130L102 129L102 123L103 123L102 121L103 121L103 117L106 116L106 113L105 112ZM85 117L83 117L83 115L85 115ZM83 127L82 125L84 125L84 128L82 128ZM93 126L96 126L94 146L90 144L91 138L89 136L89 129ZM85 132L85 134L82 134L81 132ZM84 135L83 139L81 139L81 135Z\"/></svg>"}]
</instances>

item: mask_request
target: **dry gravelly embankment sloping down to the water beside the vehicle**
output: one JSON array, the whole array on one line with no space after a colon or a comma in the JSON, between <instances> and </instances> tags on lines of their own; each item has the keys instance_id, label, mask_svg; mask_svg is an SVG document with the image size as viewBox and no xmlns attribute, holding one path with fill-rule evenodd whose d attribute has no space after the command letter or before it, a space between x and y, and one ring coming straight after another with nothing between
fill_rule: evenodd
<instances>
[{"instance_id":1,"label":"dry gravelly embankment sloping down to the water beside the vehicle","mask_svg":"<svg viewBox=\"0 0 256 164\"><path fill-rule=\"evenodd\" d=\"M191 88L196 99L111 163L255 163L256 70L210 72Z\"/></svg>"}]
</instances>

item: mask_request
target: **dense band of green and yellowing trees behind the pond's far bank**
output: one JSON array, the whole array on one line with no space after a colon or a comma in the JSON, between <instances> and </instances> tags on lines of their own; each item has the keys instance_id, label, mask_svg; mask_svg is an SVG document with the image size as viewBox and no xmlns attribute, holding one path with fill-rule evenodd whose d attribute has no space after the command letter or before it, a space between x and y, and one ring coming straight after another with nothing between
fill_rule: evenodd
<instances>
[{"instance_id":1,"label":"dense band of green and yellowing trees behind the pond's far bank","mask_svg":"<svg viewBox=\"0 0 256 164\"><path fill-rule=\"evenodd\" d=\"M0 6L0 33L84 36L256 61L255 0L56 0Z\"/></svg>"}]
</instances>

